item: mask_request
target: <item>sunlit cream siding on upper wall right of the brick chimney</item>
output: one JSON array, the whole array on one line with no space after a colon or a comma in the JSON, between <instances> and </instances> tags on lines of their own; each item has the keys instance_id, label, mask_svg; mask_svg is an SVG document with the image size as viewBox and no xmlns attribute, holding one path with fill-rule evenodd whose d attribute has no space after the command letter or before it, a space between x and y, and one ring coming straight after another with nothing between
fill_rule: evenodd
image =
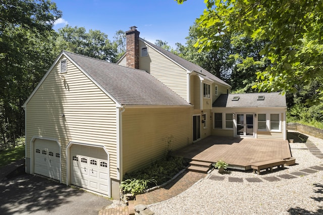
<instances>
[{"instance_id":1,"label":"sunlit cream siding on upper wall right of the brick chimney","mask_svg":"<svg viewBox=\"0 0 323 215\"><path fill-rule=\"evenodd\" d=\"M142 41L139 48L146 46ZM147 71L182 98L187 100L187 72L161 53L148 46L148 56L139 57L139 69Z\"/></svg>"}]
</instances>

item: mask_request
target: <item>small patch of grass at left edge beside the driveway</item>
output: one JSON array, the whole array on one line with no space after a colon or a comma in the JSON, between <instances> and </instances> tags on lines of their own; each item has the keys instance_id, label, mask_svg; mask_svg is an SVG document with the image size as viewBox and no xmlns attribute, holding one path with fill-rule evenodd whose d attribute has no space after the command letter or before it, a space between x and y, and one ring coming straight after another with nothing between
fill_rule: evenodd
<instances>
[{"instance_id":1,"label":"small patch of grass at left edge beside the driveway","mask_svg":"<svg viewBox=\"0 0 323 215\"><path fill-rule=\"evenodd\" d=\"M0 167L6 166L25 157L25 145L0 150Z\"/></svg>"}]
</instances>

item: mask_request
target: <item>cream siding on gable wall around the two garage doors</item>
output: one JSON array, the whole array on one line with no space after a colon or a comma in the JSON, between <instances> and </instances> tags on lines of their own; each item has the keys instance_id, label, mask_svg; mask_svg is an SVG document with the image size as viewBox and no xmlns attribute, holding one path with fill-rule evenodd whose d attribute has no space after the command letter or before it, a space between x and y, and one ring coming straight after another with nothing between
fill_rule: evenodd
<instances>
[{"instance_id":1,"label":"cream siding on gable wall around the two garage doors","mask_svg":"<svg viewBox=\"0 0 323 215\"><path fill-rule=\"evenodd\" d=\"M110 176L117 178L116 104L70 61L67 68L61 74L60 63L53 67L26 105L27 157L32 137L58 139L66 183L67 144L103 145L110 154Z\"/></svg>"}]
</instances>

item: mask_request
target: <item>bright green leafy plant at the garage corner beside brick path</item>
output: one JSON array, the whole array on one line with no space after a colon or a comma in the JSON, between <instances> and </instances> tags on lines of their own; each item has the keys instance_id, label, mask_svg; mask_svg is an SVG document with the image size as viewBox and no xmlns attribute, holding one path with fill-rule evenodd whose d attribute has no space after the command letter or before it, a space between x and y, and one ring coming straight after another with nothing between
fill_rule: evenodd
<instances>
[{"instance_id":1,"label":"bright green leafy plant at the garage corner beside brick path","mask_svg":"<svg viewBox=\"0 0 323 215\"><path fill-rule=\"evenodd\" d=\"M148 185L157 185L156 180L151 179L127 179L121 182L120 189L124 193L131 193L133 195L144 193L148 189Z\"/></svg>"}]
</instances>

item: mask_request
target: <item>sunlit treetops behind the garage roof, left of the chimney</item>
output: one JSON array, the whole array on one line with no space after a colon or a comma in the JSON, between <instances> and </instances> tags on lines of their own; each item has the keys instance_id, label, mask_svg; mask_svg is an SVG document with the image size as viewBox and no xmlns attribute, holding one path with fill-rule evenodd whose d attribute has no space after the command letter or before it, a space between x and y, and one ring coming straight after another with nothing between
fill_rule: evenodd
<instances>
[{"instance_id":1,"label":"sunlit treetops behind the garage roof, left of the chimney","mask_svg":"<svg viewBox=\"0 0 323 215\"><path fill-rule=\"evenodd\" d=\"M67 50L109 62L117 60L117 46L99 30L89 30L84 27L66 25L58 30L57 50Z\"/></svg>"}]
</instances>

